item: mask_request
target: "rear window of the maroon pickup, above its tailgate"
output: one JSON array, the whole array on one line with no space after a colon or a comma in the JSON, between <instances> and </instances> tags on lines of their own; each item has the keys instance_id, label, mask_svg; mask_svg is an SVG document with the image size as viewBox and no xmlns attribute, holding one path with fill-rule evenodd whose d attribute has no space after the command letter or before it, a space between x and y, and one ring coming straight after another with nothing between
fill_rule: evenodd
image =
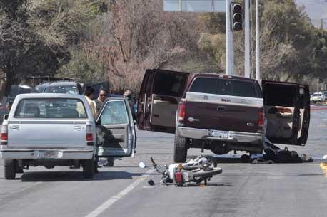
<instances>
[{"instance_id":1,"label":"rear window of the maroon pickup, above its tailgate","mask_svg":"<svg viewBox=\"0 0 327 217\"><path fill-rule=\"evenodd\" d=\"M254 83L221 78L196 78L189 91L237 97L259 97Z\"/></svg>"}]
</instances>

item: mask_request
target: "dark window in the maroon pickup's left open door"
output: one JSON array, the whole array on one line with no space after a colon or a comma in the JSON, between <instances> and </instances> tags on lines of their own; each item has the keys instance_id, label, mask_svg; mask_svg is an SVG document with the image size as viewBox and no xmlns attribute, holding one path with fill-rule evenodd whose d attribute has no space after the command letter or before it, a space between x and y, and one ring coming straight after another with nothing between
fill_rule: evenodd
<instances>
[{"instance_id":1,"label":"dark window in the maroon pickup's left open door","mask_svg":"<svg viewBox=\"0 0 327 217\"><path fill-rule=\"evenodd\" d=\"M156 95L171 95L181 97L183 95L187 75L157 73L154 79L154 91Z\"/></svg>"}]
</instances>

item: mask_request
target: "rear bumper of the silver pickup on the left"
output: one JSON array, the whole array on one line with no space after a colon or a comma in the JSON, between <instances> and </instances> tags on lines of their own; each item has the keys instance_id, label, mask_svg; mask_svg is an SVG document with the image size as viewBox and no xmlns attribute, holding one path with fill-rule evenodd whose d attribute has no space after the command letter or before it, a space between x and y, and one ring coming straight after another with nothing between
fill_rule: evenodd
<instances>
[{"instance_id":1,"label":"rear bumper of the silver pickup on the left","mask_svg":"<svg viewBox=\"0 0 327 217\"><path fill-rule=\"evenodd\" d=\"M93 149L1 149L0 157L4 159L92 159Z\"/></svg>"}]
</instances>

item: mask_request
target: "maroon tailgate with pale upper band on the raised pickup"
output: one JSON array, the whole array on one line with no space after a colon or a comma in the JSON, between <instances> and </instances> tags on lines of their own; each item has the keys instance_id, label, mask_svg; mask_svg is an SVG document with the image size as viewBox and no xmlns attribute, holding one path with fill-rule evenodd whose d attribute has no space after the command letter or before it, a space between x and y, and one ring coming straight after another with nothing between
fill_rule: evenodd
<instances>
[{"instance_id":1,"label":"maroon tailgate with pale upper band on the raised pickup","mask_svg":"<svg viewBox=\"0 0 327 217\"><path fill-rule=\"evenodd\" d=\"M258 132L263 99L198 92L186 93L185 127Z\"/></svg>"}]
</instances>

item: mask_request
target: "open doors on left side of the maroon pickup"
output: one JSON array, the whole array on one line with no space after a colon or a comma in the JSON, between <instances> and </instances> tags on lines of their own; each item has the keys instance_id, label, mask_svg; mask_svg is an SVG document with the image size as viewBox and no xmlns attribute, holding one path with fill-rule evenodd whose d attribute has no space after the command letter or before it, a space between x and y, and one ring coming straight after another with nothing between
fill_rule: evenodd
<instances>
[{"instance_id":1,"label":"open doors on left side of the maroon pickup","mask_svg":"<svg viewBox=\"0 0 327 217\"><path fill-rule=\"evenodd\" d=\"M146 70L138 99L139 129L174 132L176 110L188 75L169 70Z\"/></svg>"}]
</instances>

